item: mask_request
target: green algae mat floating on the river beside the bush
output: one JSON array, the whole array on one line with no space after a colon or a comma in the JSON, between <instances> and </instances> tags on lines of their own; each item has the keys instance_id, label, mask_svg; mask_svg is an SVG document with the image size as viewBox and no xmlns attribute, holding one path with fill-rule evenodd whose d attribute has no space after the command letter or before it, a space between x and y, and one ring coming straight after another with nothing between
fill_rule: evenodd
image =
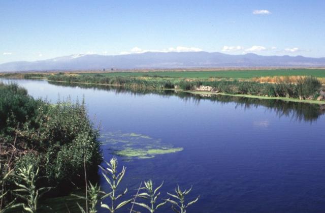
<instances>
[{"instance_id":1,"label":"green algae mat floating on the river beside the bush","mask_svg":"<svg viewBox=\"0 0 325 213\"><path fill-rule=\"evenodd\" d=\"M137 133L109 132L102 134L102 142L109 147L111 154L122 156L124 160L154 158L183 150L161 142L161 139Z\"/></svg>"}]
</instances>

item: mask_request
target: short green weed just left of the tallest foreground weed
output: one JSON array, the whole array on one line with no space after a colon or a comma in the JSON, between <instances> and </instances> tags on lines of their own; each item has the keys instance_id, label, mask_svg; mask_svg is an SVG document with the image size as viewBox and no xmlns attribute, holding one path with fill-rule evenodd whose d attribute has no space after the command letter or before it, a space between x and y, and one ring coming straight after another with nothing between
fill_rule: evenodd
<instances>
[{"instance_id":1,"label":"short green weed just left of the tallest foreground weed","mask_svg":"<svg viewBox=\"0 0 325 213\"><path fill-rule=\"evenodd\" d=\"M73 194L73 196L78 197L83 200L86 200L86 202L90 204L89 209L85 210L85 209L83 209L83 207L81 207L79 205L79 203L77 203L77 205L79 206L80 211L82 213L86 213L86 212L96 213L97 212L96 205L99 201L99 195L100 195L100 193L103 193L103 192L101 192L101 187L97 186L97 184L92 185L91 182L89 182L87 193L88 193L87 197L83 197L83 196L79 196L79 195L75 195L75 194Z\"/></svg>"}]
</instances>

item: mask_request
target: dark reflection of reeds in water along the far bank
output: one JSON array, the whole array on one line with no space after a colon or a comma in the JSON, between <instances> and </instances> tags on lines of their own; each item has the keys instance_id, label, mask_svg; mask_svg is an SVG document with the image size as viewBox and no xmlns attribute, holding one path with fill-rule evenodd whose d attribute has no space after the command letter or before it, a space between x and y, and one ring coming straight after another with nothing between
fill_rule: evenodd
<instances>
[{"instance_id":1,"label":"dark reflection of reeds in water along the far bank","mask_svg":"<svg viewBox=\"0 0 325 213\"><path fill-rule=\"evenodd\" d=\"M236 103L236 107L244 107L245 109L257 108L264 106L268 110L274 111L279 117L288 116L299 121L316 121L317 118L325 113L325 105L286 102L281 100L253 99L232 96L216 96L216 95L193 95L184 92L175 92L174 90L145 90L145 89L125 89L123 87L113 87L106 85L91 84L75 84L63 82L49 82L53 85L70 86L80 88L92 88L95 90L109 90L116 94L132 94L134 96L143 96L146 94L156 94L164 97L177 96L182 101L194 101L200 104L201 100L210 100L219 103Z\"/></svg>"}]
</instances>

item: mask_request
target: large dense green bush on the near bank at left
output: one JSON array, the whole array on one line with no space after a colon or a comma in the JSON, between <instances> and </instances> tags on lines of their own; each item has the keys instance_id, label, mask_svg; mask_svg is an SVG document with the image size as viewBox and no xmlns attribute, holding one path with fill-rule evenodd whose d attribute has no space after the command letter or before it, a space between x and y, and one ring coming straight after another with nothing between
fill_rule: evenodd
<instances>
[{"instance_id":1,"label":"large dense green bush on the near bank at left","mask_svg":"<svg viewBox=\"0 0 325 213\"><path fill-rule=\"evenodd\" d=\"M0 83L0 212L14 199L21 168L39 168L38 187L67 193L83 184L84 168L96 176L101 162L99 132L84 104L51 105L17 84ZM8 174L11 174L8 176Z\"/></svg>"}]
</instances>

